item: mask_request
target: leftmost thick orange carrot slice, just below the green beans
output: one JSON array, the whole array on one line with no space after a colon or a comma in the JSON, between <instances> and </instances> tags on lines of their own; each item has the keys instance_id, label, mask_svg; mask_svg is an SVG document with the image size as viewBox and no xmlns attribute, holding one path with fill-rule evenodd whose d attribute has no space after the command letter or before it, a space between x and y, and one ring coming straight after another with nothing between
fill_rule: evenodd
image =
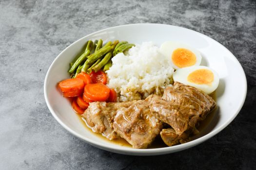
<instances>
[{"instance_id":1,"label":"leftmost thick orange carrot slice, just below the green beans","mask_svg":"<svg viewBox=\"0 0 256 170\"><path fill-rule=\"evenodd\" d=\"M66 79L59 82L59 88L62 92L75 91L84 87L83 81L78 78Z\"/></svg>"}]
</instances>

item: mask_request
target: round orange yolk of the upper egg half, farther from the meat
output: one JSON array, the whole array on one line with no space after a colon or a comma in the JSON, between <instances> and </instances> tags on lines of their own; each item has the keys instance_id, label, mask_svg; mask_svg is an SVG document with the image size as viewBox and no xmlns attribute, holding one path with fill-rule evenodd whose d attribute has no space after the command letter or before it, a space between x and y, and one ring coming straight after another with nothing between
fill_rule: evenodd
<instances>
[{"instance_id":1,"label":"round orange yolk of the upper egg half, farther from the meat","mask_svg":"<svg viewBox=\"0 0 256 170\"><path fill-rule=\"evenodd\" d=\"M184 68L195 65L197 57L187 49L176 49L173 51L172 61L177 67Z\"/></svg>"}]
</instances>

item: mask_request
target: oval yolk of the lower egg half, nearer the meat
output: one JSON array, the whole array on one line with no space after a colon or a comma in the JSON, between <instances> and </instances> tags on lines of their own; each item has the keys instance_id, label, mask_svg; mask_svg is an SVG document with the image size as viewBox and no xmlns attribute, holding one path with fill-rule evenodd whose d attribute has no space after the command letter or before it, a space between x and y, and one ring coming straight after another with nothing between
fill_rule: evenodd
<instances>
[{"instance_id":1,"label":"oval yolk of the lower egg half, nearer the meat","mask_svg":"<svg viewBox=\"0 0 256 170\"><path fill-rule=\"evenodd\" d=\"M209 69L197 69L188 75L187 80L198 85L211 85L214 81L214 74Z\"/></svg>"}]
</instances>

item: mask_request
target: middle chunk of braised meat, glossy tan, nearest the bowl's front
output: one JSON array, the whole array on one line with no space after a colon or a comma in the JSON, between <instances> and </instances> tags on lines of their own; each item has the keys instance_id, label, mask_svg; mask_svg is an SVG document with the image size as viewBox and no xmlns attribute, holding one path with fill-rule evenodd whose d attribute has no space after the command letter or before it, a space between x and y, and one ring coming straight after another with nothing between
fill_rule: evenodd
<instances>
[{"instance_id":1,"label":"middle chunk of braised meat, glossy tan, nearest the bowl's front","mask_svg":"<svg viewBox=\"0 0 256 170\"><path fill-rule=\"evenodd\" d=\"M150 113L149 102L133 102L128 108L118 109L114 119L115 132L133 148L147 148L162 129L162 123Z\"/></svg>"}]
</instances>

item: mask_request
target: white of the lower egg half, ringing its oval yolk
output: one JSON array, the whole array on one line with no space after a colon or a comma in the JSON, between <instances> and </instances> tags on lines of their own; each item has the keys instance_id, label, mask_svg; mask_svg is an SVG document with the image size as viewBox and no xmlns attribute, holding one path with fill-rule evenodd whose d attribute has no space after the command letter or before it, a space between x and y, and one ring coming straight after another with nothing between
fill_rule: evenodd
<instances>
[{"instance_id":1,"label":"white of the lower egg half, ringing its oval yolk","mask_svg":"<svg viewBox=\"0 0 256 170\"><path fill-rule=\"evenodd\" d=\"M208 69L213 72L214 81L211 83L211 85L208 85L208 84L198 85L198 84L189 82L187 80L188 75L197 69ZM175 82L180 82L185 85L190 85L190 86L196 87L196 88L204 91L206 94L211 94L212 92L214 92L217 89L218 84L219 84L219 77L218 77L217 72L215 70L213 70L212 68L208 68L206 66L191 66L191 67L186 67L186 68L180 68L174 72L173 79Z\"/></svg>"}]
</instances>

